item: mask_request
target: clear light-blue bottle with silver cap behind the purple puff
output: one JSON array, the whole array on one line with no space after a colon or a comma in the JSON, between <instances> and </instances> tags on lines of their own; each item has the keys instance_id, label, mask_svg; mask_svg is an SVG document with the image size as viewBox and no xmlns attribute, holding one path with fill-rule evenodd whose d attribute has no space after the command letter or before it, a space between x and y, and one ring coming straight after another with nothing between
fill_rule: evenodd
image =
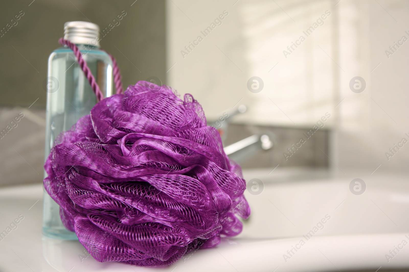
<instances>
[{"instance_id":1,"label":"clear light-blue bottle with silver cap behind the purple puff","mask_svg":"<svg viewBox=\"0 0 409 272\"><path fill-rule=\"evenodd\" d=\"M99 49L99 27L90 22L66 22L64 39L76 44L94 75L104 97L112 95L112 60ZM69 130L81 117L90 114L97 103L90 83L85 77L74 52L67 46L54 50L48 59L45 159L54 140ZM47 174L44 172L44 176ZM60 207L44 190L43 234L52 238L77 239L60 218Z\"/></svg>"}]
</instances>

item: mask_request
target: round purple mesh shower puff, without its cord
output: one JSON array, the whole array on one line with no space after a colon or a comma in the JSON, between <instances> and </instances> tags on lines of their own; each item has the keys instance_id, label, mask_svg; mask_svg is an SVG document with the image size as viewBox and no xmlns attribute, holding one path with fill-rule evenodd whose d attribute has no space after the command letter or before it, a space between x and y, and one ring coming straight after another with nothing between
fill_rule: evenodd
<instances>
[{"instance_id":1,"label":"round purple mesh shower puff, without its cord","mask_svg":"<svg viewBox=\"0 0 409 272\"><path fill-rule=\"evenodd\" d=\"M250 208L241 168L192 95L139 81L58 135L44 186L97 261L170 265L220 243Z\"/></svg>"}]
</instances>

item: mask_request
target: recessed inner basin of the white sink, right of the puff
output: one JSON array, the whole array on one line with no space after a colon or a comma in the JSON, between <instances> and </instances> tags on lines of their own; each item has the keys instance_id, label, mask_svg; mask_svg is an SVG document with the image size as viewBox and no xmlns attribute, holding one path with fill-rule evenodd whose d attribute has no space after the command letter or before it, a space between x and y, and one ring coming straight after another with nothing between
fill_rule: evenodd
<instances>
[{"instance_id":1,"label":"recessed inner basin of the white sink, right of the puff","mask_svg":"<svg viewBox=\"0 0 409 272\"><path fill-rule=\"evenodd\" d=\"M314 227L318 229L314 236L409 234L407 178L363 177L366 190L361 195L350 191L349 184L353 179L293 182L264 179L264 190L259 195L245 192L252 215L238 237L272 239L302 236Z\"/></svg>"}]
</instances>

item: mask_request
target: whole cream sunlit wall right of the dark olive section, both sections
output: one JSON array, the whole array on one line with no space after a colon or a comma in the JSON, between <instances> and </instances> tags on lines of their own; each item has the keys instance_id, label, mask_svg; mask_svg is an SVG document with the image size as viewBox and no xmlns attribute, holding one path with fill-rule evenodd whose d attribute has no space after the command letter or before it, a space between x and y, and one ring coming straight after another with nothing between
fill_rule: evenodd
<instances>
[{"instance_id":1,"label":"whole cream sunlit wall right of the dark olive section, both sections","mask_svg":"<svg viewBox=\"0 0 409 272\"><path fill-rule=\"evenodd\" d=\"M409 148L389 158L385 153L403 137L409 140L409 46L401 41L393 55L385 51L392 53L389 46L409 38L408 5L403 0L169 0L166 49L175 66L168 82L193 93L209 119L240 101L248 111L235 117L236 123L308 130L328 112L331 168L341 174L407 171ZM224 10L229 15L222 24L188 55L181 53ZM301 35L305 40L297 42ZM288 49L294 42L299 45ZM253 76L264 82L259 93L247 88ZM357 76L366 83L359 93L350 88Z\"/></svg>"}]
</instances>

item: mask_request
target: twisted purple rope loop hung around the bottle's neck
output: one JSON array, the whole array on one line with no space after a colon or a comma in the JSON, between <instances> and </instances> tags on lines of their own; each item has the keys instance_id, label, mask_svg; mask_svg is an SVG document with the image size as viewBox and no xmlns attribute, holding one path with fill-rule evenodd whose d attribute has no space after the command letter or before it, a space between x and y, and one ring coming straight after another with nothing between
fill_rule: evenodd
<instances>
[{"instance_id":1,"label":"twisted purple rope loop hung around the bottle's neck","mask_svg":"<svg viewBox=\"0 0 409 272\"><path fill-rule=\"evenodd\" d=\"M64 38L60 38L58 42L61 45L68 46L72 51L74 51L74 55L78 60L79 66L84 72L85 77L87 77L88 82L90 82L92 91L94 91L95 95L97 96L97 102L103 100L103 93L101 92L101 89L99 88L94 75L92 75L91 70L88 68L87 62L85 62L85 60L83 59L81 51L79 50L78 46L76 46L69 40L64 40ZM123 93L124 91L122 89L122 82L121 82L122 77L121 77L121 72L119 71L117 61L115 60L114 57L112 57L110 53L108 52L106 53L110 56L112 60L112 73L114 75L114 83L115 83L115 89L117 91L117 94Z\"/></svg>"}]
</instances>

